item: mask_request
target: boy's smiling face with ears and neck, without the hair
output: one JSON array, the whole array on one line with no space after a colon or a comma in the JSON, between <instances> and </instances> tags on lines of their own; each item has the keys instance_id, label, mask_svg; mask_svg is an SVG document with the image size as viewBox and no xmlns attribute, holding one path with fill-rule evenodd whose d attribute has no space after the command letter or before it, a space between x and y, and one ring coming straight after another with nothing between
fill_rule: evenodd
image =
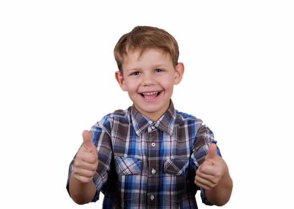
<instances>
[{"instance_id":1,"label":"boy's smiling face with ears and neck, without the hair","mask_svg":"<svg viewBox=\"0 0 294 209\"><path fill-rule=\"evenodd\" d=\"M122 65L123 75L116 72L116 79L127 91L137 110L157 121L169 108L173 86L181 82L184 66L173 67L169 54L161 49L147 49L128 53Z\"/></svg>"}]
</instances>

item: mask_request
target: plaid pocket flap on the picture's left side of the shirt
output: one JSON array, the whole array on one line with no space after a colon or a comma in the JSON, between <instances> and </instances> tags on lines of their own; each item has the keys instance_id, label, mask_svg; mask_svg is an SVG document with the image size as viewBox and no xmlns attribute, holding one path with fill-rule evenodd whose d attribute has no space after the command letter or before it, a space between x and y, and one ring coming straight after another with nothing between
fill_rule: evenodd
<instances>
[{"instance_id":1,"label":"plaid pocket flap on the picture's left side of the shirt","mask_svg":"<svg viewBox=\"0 0 294 209\"><path fill-rule=\"evenodd\" d=\"M121 175L131 175L142 172L142 159L118 157L115 158L116 172Z\"/></svg>"}]
</instances>

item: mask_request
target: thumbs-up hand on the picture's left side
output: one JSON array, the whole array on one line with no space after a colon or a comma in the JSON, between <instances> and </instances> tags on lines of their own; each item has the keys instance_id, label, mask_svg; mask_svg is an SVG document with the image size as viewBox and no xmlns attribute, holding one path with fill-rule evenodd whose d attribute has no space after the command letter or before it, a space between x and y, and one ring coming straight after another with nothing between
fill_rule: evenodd
<instances>
[{"instance_id":1,"label":"thumbs-up hand on the picture's left side","mask_svg":"<svg viewBox=\"0 0 294 209\"><path fill-rule=\"evenodd\" d=\"M83 131L84 146L78 150L74 165L73 177L81 183L92 181L98 167L98 152L92 142L89 131Z\"/></svg>"}]
</instances>

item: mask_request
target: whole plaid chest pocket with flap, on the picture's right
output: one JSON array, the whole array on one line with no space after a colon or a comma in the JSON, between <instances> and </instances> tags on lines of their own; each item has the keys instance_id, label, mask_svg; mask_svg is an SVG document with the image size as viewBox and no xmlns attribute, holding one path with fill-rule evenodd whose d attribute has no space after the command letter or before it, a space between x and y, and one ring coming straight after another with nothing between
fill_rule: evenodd
<instances>
[{"instance_id":1,"label":"whole plaid chest pocket with flap, on the picture's right","mask_svg":"<svg viewBox=\"0 0 294 209\"><path fill-rule=\"evenodd\" d=\"M181 201L188 169L189 158L174 158L165 160L164 192L166 200L174 202Z\"/></svg>"}]
</instances>

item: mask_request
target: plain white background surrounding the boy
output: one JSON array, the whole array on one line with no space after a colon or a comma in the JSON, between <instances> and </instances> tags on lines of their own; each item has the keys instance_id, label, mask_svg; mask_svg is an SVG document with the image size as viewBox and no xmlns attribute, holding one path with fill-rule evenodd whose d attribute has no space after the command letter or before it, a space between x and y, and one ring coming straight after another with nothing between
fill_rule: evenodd
<instances>
[{"instance_id":1,"label":"plain white background surrounding the boy","mask_svg":"<svg viewBox=\"0 0 294 209\"><path fill-rule=\"evenodd\" d=\"M70 199L69 164L84 129L131 105L113 48L151 25L180 46L176 109L204 120L229 165L222 208L293 209L293 11L291 0L1 1L0 208L101 208L102 194Z\"/></svg>"}]
</instances>

